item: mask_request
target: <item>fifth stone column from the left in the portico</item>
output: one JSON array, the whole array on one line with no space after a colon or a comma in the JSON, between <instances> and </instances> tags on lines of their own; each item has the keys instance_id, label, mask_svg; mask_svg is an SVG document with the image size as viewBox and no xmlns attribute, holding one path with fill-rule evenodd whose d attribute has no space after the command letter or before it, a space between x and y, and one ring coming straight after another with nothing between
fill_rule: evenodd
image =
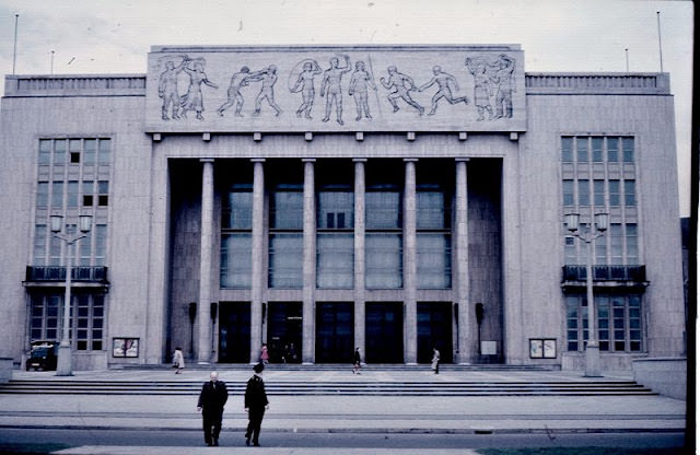
<instances>
[{"instance_id":1,"label":"fifth stone column from the left in the portico","mask_svg":"<svg viewBox=\"0 0 700 455\"><path fill-rule=\"evenodd\" d=\"M404 185L404 361L407 364L418 362L418 317L416 303L416 162L406 159L406 175Z\"/></svg>"}]
</instances>

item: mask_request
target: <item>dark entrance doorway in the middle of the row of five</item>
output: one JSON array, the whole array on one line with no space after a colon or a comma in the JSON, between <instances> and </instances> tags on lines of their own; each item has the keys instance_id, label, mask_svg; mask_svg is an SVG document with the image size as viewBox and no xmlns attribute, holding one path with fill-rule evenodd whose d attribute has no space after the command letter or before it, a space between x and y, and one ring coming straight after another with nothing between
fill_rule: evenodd
<instances>
[{"instance_id":1,"label":"dark entrance doorway in the middle of the row of five","mask_svg":"<svg viewBox=\"0 0 700 455\"><path fill-rule=\"evenodd\" d=\"M352 363L353 343L353 304L316 303L316 363Z\"/></svg>"}]
</instances>

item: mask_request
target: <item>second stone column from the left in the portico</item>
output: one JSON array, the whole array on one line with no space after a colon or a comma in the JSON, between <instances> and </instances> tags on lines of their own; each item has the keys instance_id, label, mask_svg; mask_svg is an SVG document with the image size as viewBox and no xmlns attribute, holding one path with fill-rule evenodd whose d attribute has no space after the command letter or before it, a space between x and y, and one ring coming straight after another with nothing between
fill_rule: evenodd
<instances>
[{"instance_id":1,"label":"second stone column from the left in the portico","mask_svg":"<svg viewBox=\"0 0 700 455\"><path fill-rule=\"evenodd\" d=\"M253 233L250 259L250 363L258 361L262 345L262 290L265 273L262 258L267 252L262 250L265 240L265 170L264 159L253 162Z\"/></svg>"}]
</instances>

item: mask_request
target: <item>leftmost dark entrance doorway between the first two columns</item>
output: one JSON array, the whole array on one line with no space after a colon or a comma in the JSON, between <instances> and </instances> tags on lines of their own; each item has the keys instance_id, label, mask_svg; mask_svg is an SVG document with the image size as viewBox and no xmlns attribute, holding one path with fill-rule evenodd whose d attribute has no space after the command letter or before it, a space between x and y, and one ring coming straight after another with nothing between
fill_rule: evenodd
<instances>
[{"instance_id":1,"label":"leftmost dark entrance doorway between the first two columns","mask_svg":"<svg viewBox=\"0 0 700 455\"><path fill-rule=\"evenodd\" d=\"M221 302L219 305L219 362L250 361L250 303Z\"/></svg>"}]
</instances>

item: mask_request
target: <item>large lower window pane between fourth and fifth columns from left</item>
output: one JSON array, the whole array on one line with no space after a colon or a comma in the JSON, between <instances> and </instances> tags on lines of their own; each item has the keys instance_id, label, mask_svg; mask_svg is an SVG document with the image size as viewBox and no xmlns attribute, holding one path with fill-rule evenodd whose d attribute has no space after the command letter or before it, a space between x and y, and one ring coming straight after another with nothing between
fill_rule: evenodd
<instances>
[{"instance_id":1,"label":"large lower window pane between fourth and fifth columns from left","mask_svg":"<svg viewBox=\"0 0 700 455\"><path fill-rule=\"evenodd\" d=\"M400 234L368 234L365 237L365 285L399 289L404 285Z\"/></svg>"}]
</instances>

